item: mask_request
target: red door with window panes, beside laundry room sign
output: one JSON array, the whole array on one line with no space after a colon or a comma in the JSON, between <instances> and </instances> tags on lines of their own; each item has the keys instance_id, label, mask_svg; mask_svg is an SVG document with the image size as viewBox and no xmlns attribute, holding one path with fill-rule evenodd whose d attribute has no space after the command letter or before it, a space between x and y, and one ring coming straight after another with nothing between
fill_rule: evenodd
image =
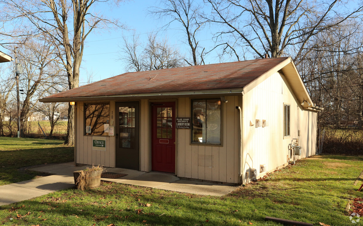
<instances>
[{"instance_id":1,"label":"red door with window panes, beside laundry room sign","mask_svg":"<svg viewBox=\"0 0 363 226\"><path fill-rule=\"evenodd\" d=\"M175 102L151 106L151 169L175 173Z\"/></svg>"}]
</instances>

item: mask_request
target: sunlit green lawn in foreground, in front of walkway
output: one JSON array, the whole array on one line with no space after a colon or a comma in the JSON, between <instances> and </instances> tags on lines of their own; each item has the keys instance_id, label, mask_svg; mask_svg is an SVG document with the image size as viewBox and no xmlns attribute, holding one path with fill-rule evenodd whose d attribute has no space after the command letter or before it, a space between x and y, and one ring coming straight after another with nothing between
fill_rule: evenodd
<instances>
[{"instance_id":1,"label":"sunlit green lawn in foreground, in front of walkway","mask_svg":"<svg viewBox=\"0 0 363 226\"><path fill-rule=\"evenodd\" d=\"M102 182L95 189L67 189L1 206L0 224L282 226L264 220L270 216L314 225L363 225L352 224L344 212L349 200L363 198L356 191L362 182L353 186L362 166L363 157L314 156L224 197Z\"/></svg>"}]
</instances>

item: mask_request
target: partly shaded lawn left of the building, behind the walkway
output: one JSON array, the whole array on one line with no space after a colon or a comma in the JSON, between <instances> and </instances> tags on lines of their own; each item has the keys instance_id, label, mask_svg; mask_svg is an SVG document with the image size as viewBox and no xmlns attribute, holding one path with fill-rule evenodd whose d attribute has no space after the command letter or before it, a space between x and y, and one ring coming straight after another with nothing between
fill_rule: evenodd
<instances>
[{"instance_id":1,"label":"partly shaded lawn left of the building, behind the walkway","mask_svg":"<svg viewBox=\"0 0 363 226\"><path fill-rule=\"evenodd\" d=\"M73 147L61 140L0 137L0 185L44 176L26 168L34 165L71 162Z\"/></svg>"}]
</instances>

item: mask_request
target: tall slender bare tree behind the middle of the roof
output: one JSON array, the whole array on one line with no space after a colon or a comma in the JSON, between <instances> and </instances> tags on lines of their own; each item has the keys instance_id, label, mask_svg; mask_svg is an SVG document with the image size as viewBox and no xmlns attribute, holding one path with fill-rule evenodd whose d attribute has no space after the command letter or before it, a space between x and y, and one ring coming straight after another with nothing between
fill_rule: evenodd
<instances>
[{"instance_id":1,"label":"tall slender bare tree behind the middle of the roof","mask_svg":"<svg viewBox=\"0 0 363 226\"><path fill-rule=\"evenodd\" d=\"M198 41L198 33L205 25L205 21L200 17L201 8L194 0L160 0L160 6L151 7L149 11L158 19L168 19L165 26L169 26L173 21L182 26L181 30L185 33L192 58L184 58L188 65L204 64L205 48L201 48Z\"/></svg>"}]
</instances>

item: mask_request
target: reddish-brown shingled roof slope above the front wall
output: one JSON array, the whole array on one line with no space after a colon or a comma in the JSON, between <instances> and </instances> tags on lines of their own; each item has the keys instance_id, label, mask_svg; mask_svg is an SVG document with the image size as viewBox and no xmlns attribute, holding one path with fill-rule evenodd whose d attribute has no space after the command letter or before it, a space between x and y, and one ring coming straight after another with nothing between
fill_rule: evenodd
<instances>
[{"instance_id":1,"label":"reddish-brown shingled roof slope above the front wall","mask_svg":"<svg viewBox=\"0 0 363 226\"><path fill-rule=\"evenodd\" d=\"M130 72L43 98L79 98L213 89L240 89L288 57Z\"/></svg>"}]
</instances>

